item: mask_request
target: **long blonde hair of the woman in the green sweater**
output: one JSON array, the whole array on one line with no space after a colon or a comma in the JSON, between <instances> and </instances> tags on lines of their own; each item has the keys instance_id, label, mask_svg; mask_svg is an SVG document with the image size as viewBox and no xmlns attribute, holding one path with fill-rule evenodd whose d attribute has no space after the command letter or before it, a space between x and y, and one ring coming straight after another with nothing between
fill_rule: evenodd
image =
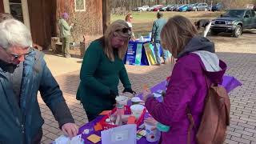
<instances>
[{"instance_id":1,"label":"long blonde hair of the woman in the green sweater","mask_svg":"<svg viewBox=\"0 0 256 144\"><path fill-rule=\"evenodd\" d=\"M126 32L123 32L122 30L126 29ZM118 48L118 58L123 59L126 55L128 42L130 40L131 31L128 26L128 24L123 20L117 20L115 22L112 22L111 25L106 29L106 32L103 36L104 42L103 42L103 51L106 54L107 58L110 59L110 61L114 62L114 53L113 53L113 47L112 47L112 38L114 37L121 37L126 38L126 41L124 42L124 45L120 48Z\"/></svg>"}]
</instances>

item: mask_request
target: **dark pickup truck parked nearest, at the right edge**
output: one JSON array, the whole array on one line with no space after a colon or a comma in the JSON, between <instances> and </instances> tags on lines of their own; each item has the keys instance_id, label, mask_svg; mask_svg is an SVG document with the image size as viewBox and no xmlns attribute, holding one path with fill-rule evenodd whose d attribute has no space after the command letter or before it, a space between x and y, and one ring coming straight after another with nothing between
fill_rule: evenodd
<instances>
[{"instance_id":1,"label":"dark pickup truck parked nearest, at the right edge","mask_svg":"<svg viewBox=\"0 0 256 144\"><path fill-rule=\"evenodd\" d=\"M212 21L210 33L215 35L221 32L232 33L235 38L242 34L244 29L256 28L256 14L254 10L234 9L227 10L219 18Z\"/></svg>"}]
</instances>

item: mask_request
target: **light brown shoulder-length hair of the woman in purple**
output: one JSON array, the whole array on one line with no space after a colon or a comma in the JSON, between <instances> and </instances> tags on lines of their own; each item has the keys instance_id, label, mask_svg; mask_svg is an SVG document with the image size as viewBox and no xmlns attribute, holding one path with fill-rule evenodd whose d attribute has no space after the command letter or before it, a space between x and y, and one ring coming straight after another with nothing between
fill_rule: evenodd
<instances>
[{"instance_id":1,"label":"light brown shoulder-length hair of the woman in purple","mask_svg":"<svg viewBox=\"0 0 256 144\"><path fill-rule=\"evenodd\" d=\"M160 34L162 47L177 58L190 39L198 34L197 28L188 18L174 16L163 26Z\"/></svg>"}]
</instances>

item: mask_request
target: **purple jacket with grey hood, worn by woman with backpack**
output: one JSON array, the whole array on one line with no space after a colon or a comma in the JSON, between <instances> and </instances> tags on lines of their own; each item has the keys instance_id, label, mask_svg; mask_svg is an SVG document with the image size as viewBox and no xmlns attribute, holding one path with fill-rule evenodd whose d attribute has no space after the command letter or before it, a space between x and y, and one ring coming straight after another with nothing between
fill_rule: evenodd
<instances>
[{"instance_id":1,"label":"purple jacket with grey hood, worn by woman with backpack","mask_svg":"<svg viewBox=\"0 0 256 144\"><path fill-rule=\"evenodd\" d=\"M195 134L202 118L207 81L222 83L226 64L214 54L214 44L206 38L192 38L172 71L166 97L163 102L154 98L146 100L146 109L158 121L170 126L162 133L163 144L186 144L190 122L186 116L189 106L196 128L191 134L191 144L196 143ZM205 77L206 76L206 77Z\"/></svg>"}]
</instances>

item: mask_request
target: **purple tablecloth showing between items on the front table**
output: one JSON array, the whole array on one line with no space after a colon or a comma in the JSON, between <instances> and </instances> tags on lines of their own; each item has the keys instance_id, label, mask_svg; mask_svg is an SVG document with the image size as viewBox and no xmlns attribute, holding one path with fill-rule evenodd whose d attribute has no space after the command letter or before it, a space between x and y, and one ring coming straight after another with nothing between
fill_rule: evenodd
<instances>
[{"instance_id":1,"label":"purple tablecloth showing between items on the front table","mask_svg":"<svg viewBox=\"0 0 256 144\"><path fill-rule=\"evenodd\" d=\"M237 86L242 86L242 83L239 82L234 77L224 76L222 86L224 86L226 88L227 92L229 93L231 90L234 90L234 88L236 88ZM157 90L166 90L166 81L158 83L156 86L153 86L150 90L153 93L156 92ZM142 97L142 94L138 94L138 97ZM130 102L128 102L128 105L129 104L130 104ZM82 134L82 138L84 139L86 144L93 144L93 142L90 142L89 140L87 140L87 137L90 136L90 134L96 134L98 136L101 136L101 132L100 131L94 131L93 127L95 126L95 124L97 122L99 122L101 120L102 117L103 116L98 116L98 118L95 118L93 121L88 122L84 126L81 126L79 128L78 134L82 134L82 131L85 130L85 129L90 130L89 134ZM146 114L145 117L148 118L148 117L150 117L150 115ZM102 143L102 142L98 142L97 144L100 144L100 143ZM158 142L147 142L146 138L142 137L140 140L137 141L137 143L138 144L146 144L146 143L157 144Z\"/></svg>"}]
</instances>

